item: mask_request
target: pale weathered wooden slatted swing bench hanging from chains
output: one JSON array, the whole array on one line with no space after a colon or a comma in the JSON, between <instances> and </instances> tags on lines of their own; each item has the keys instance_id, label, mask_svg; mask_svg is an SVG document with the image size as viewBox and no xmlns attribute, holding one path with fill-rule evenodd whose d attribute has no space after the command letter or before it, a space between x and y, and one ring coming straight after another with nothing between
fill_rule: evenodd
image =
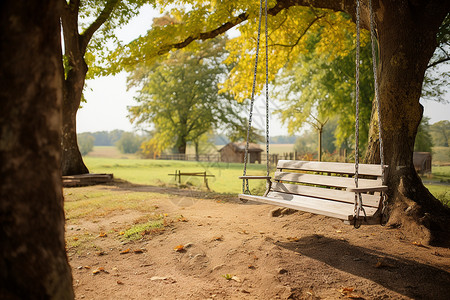
<instances>
[{"instance_id":1,"label":"pale weathered wooden slatted swing bench hanging from chains","mask_svg":"<svg viewBox=\"0 0 450 300\"><path fill-rule=\"evenodd\" d=\"M379 224L382 193L388 189L382 185L382 166L359 164L358 174L356 188L353 163L280 160L273 181L268 185L264 196L240 194L239 199L288 207L353 224L355 195L361 193L366 212L363 224ZM266 179L264 176L262 178ZM360 217L363 216L361 213Z\"/></svg>"}]
</instances>

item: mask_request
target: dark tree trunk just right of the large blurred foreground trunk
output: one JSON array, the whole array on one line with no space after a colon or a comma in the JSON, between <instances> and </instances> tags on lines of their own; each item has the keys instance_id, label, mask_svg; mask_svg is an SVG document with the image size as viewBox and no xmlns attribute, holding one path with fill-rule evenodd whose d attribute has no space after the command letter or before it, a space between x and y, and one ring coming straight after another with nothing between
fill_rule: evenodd
<instances>
[{"instance_id":1,"label":"dark tree trunk just right of the large blurred foreground trunk","mask_svg":"<svg viewBox=\"0 0 450 300\"><path fill-rule=\"evenodd\" d=\"M78 7L65 4L61 20L67 64L63 85L61 169L63 175L85 174L89 170L78 148L76 118L88 67L84 61L86 49L81 45L78 34Z\"/></svg>"}]
</instances>

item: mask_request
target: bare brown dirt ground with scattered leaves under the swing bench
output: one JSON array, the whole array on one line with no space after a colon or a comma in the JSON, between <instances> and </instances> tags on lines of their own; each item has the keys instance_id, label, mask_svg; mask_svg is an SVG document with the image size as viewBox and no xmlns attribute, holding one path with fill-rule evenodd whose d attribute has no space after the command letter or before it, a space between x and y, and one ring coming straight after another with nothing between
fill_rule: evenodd
<instances>
[{"instance_id":1,"label":"bare brown dirt ground with scattered leaves under the swing bench","mask_svg":"<svg viewBox=\"0 0 450 300\"><path fill-rule=\"evenodd\" d=\"M96 237L91 250L68 247L76 299L450 299L450 249L407 240L399 228L354 229L192 190L95 188L161 193L151 201L166 224L124 241L120 231L142 212L68 220L68 241Z\"/></svg>"}]
</instances>

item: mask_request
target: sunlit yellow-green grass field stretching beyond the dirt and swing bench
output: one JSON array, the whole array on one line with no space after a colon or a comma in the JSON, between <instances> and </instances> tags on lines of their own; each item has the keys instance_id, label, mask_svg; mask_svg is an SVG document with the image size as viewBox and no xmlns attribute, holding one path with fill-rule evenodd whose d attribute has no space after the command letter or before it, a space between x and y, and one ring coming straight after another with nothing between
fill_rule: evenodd
<instances>
[{"instance_id":1,"label":"sunlit yellow-green grass field stretching beyond the dirt and swing bench","mask_svg":"<svg viewBox=\"0 0 450 300\"><path fill-rule=\"evenodd\" d=\"M292 145L291 145L292 146ZM280 153L288 152L287 145L277 148ZM285 151L286 150L286 151ZM237 194L242 190L243 164L219 162L194 162L177 160L149 160L139 159L136 155L121 154L115 147L95 147L94 151L84 157L84 161L91 173L113 173L120 178L136 184L148 185L176 185L174 176L176 170L182 172L204 172L214 175L209 178L209 187L218 193ZM264 175L265 165L250 164L247 174ZM425 186L442 202L450 203L450 166L433 166L433 174L423 178ZM203 186L203 178L182 178L182 185ZM264 190L265 183L255 180L251 182L254 192Z\"/></svg>"}]
</instances>

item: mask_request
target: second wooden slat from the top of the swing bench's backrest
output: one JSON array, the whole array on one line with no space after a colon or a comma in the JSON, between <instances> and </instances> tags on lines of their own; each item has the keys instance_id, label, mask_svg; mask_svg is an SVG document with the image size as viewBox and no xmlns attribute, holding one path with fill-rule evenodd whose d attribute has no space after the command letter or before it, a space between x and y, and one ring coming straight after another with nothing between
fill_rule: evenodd
<instances>
[{"instance_id":1,"label":"second wooden slat from the top of the swing bench's backrest","mask_svg":"<svg viewBox=\"0 0 450 300\"><path fill-rule=\"evenodd\" d=\"M348 177L338 177L338 176L325 176L325 175L314 175L305 173L288 173L288 172L275 172L275 180L278 181L291 181L307 184L324 185L339 188L355 187L355 180ZM359 179L358 183L360 186L370 187L381 185L381 179Z\"/></svg>"}]
</instances>

